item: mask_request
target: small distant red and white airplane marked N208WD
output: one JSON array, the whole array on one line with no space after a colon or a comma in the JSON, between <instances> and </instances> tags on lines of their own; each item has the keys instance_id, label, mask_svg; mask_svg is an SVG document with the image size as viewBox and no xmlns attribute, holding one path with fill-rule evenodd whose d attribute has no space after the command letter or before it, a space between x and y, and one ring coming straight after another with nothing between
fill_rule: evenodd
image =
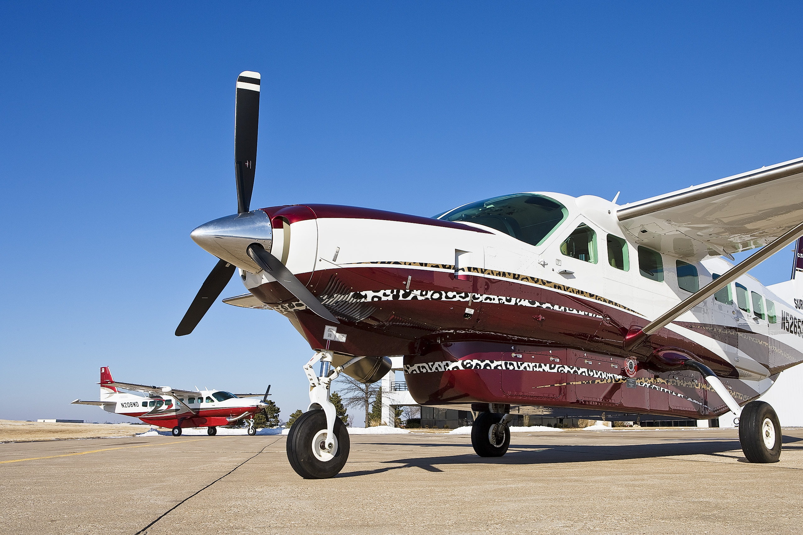
<instances>
[{"instance_id":1,"label":"small distant red and white airplane marked N208WD","mask_svg":"<svg viewBox=\"0 0 803 535\"><path fill-rule=\"evenodd\" d=\"M181 436L183 427L208 427L209 435L218 426L230 426L238 420L248 423L248 435L256 435L254 415L267 406L268 386L263 394L231 394L225 390L176 390L169 386L136 385L112 379L108 366L100 369L100 401L76 399L75 405L96 405L106 412L132 416L158 427L172 427L173 436ZM134 390L143 394L121 392Z\"/></svg>"}]
</instances>

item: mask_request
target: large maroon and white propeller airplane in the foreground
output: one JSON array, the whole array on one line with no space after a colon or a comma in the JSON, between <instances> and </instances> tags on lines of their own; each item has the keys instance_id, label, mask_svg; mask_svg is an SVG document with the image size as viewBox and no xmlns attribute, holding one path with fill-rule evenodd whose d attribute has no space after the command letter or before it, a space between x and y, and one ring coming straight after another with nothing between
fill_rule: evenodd
<instances>
[{"instance_id":1,"label":"large maroon and white propeller airplane in the foreground","mask_svg":"<svg viewBox=\"0 0 803 535\"><path fill-rule=\"evenodd\" d=\"M417 402L479 411L479 455L507 451L517 404L627 419L732 411L748 460L779 459L777 415L756 398L803 361L803 288L765 287L748 270L803 235L803 158L624 206L536 191L434 218L251 210L259 83L251 71L237 79L238 213L192 231L219 261L176 334L192 332L238 268L248 293L224 302L275 310L304 336L310 405L287 437L300 476L343 467L349 435L329 386L340 373L376 381L386 355L404 355ZM736 266L724 258L756 247Z\"/></svg>"}]
</instances>

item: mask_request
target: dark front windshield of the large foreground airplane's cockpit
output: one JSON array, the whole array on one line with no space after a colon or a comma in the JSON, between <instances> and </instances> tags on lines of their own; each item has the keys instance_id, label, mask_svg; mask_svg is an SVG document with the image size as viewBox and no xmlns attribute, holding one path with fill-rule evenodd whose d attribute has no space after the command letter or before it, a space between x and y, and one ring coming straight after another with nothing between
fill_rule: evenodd
<instances>
[{"instance_id":1,"label":"dark front windshield of the large foreground airplane's cockpit","mask_svg":"<svg viewBox=\"0 0 803 535\"><path fill-rule=\"evenodd\" d=\"M569 211L544 195L515 194L472 202L438 215L446 221L477 223L530 245L544 243Z\"/></svg>"}]
</instances>

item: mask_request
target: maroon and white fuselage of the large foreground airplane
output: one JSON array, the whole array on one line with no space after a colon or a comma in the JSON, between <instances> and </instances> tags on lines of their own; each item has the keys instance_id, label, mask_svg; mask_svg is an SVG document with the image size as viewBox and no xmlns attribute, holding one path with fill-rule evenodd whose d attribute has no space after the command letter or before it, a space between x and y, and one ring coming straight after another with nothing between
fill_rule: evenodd
<instances>
[{"instance_id":1,"label":"maroon and white fuselage of the large foreground airplane","mask_svg":"<svg viewBox=\"0 0 803 535\"><path fill-rule=\"evenodd\" d=\"M627 351L629 329L731 264L635 247L617 205L605 199L519 196L440 219L328 205L263 211L273 227L271 254L341 321L337 330L347 336L331 342L335 363L404 355L410 392L425 404L609 406L713 418L727 407L695 371L673 370L679 354L714 370L740 403L803 360L792 289L779 296L752 276ZM528 206L536 211L527 215ZM313 349L326 346L326 321L267 273L241 276L259 299L243 306L282 312ZM638 362L633 377L624 373L628 360Z\"/></svg>"}]
</instances>

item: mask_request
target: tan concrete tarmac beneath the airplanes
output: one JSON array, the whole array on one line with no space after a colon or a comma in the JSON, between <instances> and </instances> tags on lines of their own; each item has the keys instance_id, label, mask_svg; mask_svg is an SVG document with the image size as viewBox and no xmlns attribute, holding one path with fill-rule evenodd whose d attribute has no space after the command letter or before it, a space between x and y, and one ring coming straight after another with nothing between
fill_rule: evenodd
<instances>
[{"instance_id":1,"label":"tan concrete tarmac beneath the airplanes","mask_svg":"<svg viewBox=\"0 0 803 535\"><path fill-rule=\"evenodd\" d=\"M803 533L803 429L777 464L736 430L353 435L331 480L279 436L0 445L0 533Z\"/></svg>"}]
</instances>

